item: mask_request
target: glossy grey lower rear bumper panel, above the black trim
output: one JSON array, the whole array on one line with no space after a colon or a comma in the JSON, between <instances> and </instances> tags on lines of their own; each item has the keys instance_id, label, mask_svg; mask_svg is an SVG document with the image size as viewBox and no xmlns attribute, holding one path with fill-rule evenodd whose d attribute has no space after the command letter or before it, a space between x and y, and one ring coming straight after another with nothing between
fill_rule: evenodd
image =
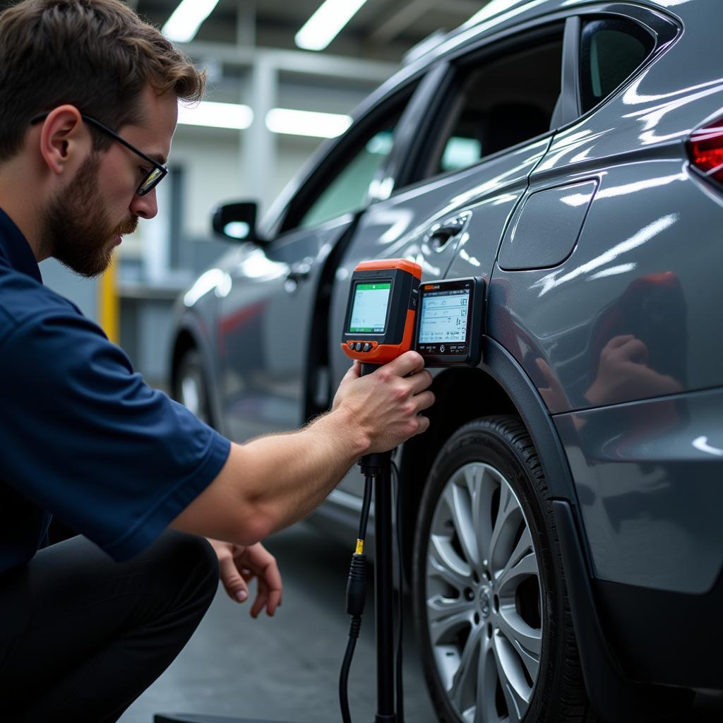
<instances>
[{"instance_id":1,"label":"glossy grey lower rear bumper panel, above the black trim","mask_svg":"<svg viewBox=\"0 0 723 723\"><path fill-rule=\"evenodd\" d=\"M703 594L723 565L723 389L554 417L596 578Z\"/></svg>"}]
</instances>

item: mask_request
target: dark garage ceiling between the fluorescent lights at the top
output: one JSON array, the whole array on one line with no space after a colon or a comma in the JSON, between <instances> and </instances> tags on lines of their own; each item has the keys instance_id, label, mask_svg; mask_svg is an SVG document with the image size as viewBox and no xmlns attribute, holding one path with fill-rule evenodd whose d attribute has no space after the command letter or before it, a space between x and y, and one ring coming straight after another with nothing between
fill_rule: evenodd
<instances>
[{"instance_id":1,"label":"dark garage ceiling between the fluorescent lights at the top","mask_svg":"<svg viewBox=\"0 0 723 723\"><path fill-rule=\"evenodd\" d=\"M321 1L220 0L195 39L296 48L294 35ZM409 48L437 30L453 30L485 4L487 0L367 0L324 52L398 62ZM131 0L129 5L163 25L178 0Z\"/></svg>"}]
</instances>

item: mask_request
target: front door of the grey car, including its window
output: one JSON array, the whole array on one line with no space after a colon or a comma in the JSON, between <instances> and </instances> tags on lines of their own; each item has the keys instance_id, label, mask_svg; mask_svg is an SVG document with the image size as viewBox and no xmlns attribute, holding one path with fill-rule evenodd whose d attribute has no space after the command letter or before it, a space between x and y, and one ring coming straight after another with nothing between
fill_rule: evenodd
<instances>
[{"instance_id":1,"label":"front door of the grey car, including its window","mask_svg":"<svg viewBox=\"0 0 723 723\"><path fill-rule=\"evenodd\" d=\"M271 241L227 257L218 356L224 428L233 439L304 422L323 270L363 213L413 91L403 88L348 130L301 183Z\"/></svg>"}]
</instances>

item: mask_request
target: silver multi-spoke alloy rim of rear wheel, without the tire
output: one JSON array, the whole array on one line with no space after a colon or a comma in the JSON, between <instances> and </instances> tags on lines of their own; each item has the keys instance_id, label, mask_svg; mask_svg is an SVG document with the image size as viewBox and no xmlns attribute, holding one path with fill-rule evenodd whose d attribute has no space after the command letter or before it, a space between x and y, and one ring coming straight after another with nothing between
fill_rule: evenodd
<instances>
[{"instance_id":1,"label":"silver multi-spoke alloy rim of rear wheel, without the tire","mask_svg":"<svg viewBox=\"0 0 723 723\"><path fill-rule=\"evenodd\" d=\"M466 723L515 723L542 653L538 556L505 477L482 462L448 479L429 529L427 631L437 673Z\"/></svg>"}]
</instances>

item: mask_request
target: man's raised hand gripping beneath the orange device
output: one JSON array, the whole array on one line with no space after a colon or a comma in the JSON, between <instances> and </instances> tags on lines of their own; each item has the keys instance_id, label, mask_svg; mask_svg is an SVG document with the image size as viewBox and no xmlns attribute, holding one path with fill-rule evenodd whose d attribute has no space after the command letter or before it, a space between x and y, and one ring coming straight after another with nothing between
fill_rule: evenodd
<instances>
[{"instance_id":1,"label":"man's raised hand gripping beneath the orange device","mask_svg":"<svg viewBox=\"0 0 723 723\"><path fill-rule=\"evenodd\" d=\"M407 351L393 361L361 377L361 365L354 362L337 390L333 410L346 408L369 440L369 452L385 452L409 437L422 434L429 419L419 412L435 403L429 391L432 375L424 359Z\"/></svg>"}]
</instances>

